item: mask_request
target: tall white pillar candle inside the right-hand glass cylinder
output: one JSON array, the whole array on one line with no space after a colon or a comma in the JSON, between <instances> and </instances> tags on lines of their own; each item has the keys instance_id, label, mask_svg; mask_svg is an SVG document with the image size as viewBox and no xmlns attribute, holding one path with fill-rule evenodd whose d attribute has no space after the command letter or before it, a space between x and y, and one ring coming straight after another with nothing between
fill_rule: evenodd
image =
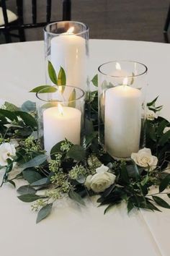
<instances>
[{"instance_id":1,"label":"tall white pillar candle inside the right-hand glass cylinder","mask_svg":"<svg viewBox=\"0 0 170 256\"><path fill-rule=\"evenodd\" d=\"M117 158L138 152L141 128L140 90L128 85L109 88L105 95L104 144Z\"/></svg>"}]
</instances>

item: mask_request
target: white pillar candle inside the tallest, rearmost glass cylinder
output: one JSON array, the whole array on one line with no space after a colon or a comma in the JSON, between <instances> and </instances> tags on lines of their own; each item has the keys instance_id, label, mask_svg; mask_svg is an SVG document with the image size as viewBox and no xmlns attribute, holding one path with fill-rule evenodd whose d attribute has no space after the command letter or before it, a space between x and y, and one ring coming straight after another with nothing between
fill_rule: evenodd
<instances>
[{"instance_id":1,"label":"white pillar candle inside the tallest, rearmost glass cylinder","mask_svg":"<svg viewBox=\"0 0 170 256\"><path fill-rule=\"evenodd\" d=\"M86 40L73 33L63 33L51 40L50 61L59 72L66 72L66 85L86 90Z\"/></svg>"}]
</instances>

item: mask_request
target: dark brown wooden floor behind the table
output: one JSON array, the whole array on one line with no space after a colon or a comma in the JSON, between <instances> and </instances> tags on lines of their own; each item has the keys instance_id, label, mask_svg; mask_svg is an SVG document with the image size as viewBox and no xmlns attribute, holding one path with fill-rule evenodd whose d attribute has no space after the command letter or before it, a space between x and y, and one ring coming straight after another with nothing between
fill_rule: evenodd
<instances>
[{"instance_id":1,"label":"dark brown wooden floor behind the table","mask_svg":"<svg viewBox=\"0 0 170 256\"><path fill-rule=\"evenodd\" d=\"M24 0L24 22L31 20L31 0ZM37 21L45 19L45 0L37 1ZM16 0L6 0L6 6L16 12ZM169 0L72 0L71 20L86 23L90 38L145 40L167 42L164 24ZM52 1L51 20L62 19L62 0ZM26 40L42 40L42 27L25 31ZM12 38L12 41L19 41ZM5 43L0 34L0 43Z\"/></svg>"}]
</instances>

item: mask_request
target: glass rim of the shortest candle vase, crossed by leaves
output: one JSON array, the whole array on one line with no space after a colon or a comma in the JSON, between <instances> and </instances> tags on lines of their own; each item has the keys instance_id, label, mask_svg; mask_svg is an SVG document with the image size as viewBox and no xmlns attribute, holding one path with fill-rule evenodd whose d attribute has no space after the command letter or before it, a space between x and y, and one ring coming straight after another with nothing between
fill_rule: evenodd
<instances>
[{"instance_id":1,"label":"glass rim of the shortest candle vase, crossed by leaves","mask_svg":"<svg viewBox=\"0 0 170 256\"><path fill-rule=\"evenodd\" d=\"M80 92L81 92L81 95L78 97L78 98L76 98L75 100L73 100L73 101L60 101L60 103L71 103L71 102L75 102L75 101L79 101L81 98L83 98L84 97L84 95L85 95L85 93L84 93L84 90L82 90L81 88L78 88L78 87L76 87L76 86L71 86L71 85L54 85L53 87L54 88L58 88L58 86L61 86L61 87L68 87L68 88L73 88L73 89L76 89L76 90L79 90ZM36 95L36 97L40 100L40 101L44 101L44 102L46 102L46 103L48 103L48 102L50 102L49 100L45 100L45 99L43 99L43 98L40 98L40 96L39 95L45 95L45 94L50 94L50 93L40 93L40 91L42 91L42 90L46 90L47 88L44 88L44 89L41 89L41 90L39 90L35 95ZM56 92L52 92L52 93L56 93ZM57 100L55 100L56 102L57 102Z\"/></svg>"}]
</instances>

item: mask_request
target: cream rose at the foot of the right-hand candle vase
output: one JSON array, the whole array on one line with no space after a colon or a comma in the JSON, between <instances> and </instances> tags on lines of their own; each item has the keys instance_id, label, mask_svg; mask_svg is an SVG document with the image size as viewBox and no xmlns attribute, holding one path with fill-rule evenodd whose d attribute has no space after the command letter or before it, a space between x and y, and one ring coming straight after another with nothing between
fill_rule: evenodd
<instances>
[{"instance_id":1,"label":"cream rose at the foot of the right-hand candle vase","mask_svg":"<svg viewBox=\"0 0 170 256\"><path fill-rule=\"evenodd\" d=\"M149 166L150 171L153 171L158 163L158 158L151 154L150 148L143 148L139 150L138 153L132 153L131 158L138 166L146 169L148 169Z\"/></svg>"}]
</instances>

